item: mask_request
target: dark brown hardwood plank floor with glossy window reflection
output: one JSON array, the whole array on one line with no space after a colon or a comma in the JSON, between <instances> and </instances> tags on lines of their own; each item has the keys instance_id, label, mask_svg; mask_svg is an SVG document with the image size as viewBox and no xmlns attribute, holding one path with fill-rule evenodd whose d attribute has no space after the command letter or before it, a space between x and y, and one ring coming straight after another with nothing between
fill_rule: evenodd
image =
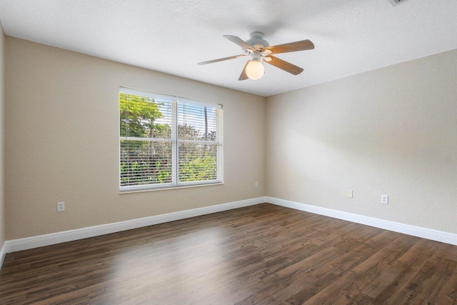
<instances>
[{"instance_id":1,"label":"dark brown hardwood plank floor with glossy window reflection","mask_svg":"<svg viewBox=\"0 0 457 305\"><path fill-rule=\"evenodd\" d=\"M30 303L457 304L457 246L260 204L7 254Z\"/></svg>"}]
</instances>

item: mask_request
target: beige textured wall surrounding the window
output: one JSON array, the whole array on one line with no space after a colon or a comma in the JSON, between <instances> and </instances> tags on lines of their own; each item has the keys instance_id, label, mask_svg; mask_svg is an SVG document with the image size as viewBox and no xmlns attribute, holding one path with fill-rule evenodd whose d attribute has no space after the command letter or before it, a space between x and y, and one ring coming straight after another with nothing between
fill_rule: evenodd
<instances>
[{"instance_id":1,"label":"beige textured wall surrounding the window","mask_svg":"<svg viewBox=\"0 0 457 305\"><path fill-rule=\"evenodd\" d=\"M6 76L8 240L265 194L263 97L11 37ZM223 104L224 185L119 194L119 86Z\"/></svg>"}]
</instances>

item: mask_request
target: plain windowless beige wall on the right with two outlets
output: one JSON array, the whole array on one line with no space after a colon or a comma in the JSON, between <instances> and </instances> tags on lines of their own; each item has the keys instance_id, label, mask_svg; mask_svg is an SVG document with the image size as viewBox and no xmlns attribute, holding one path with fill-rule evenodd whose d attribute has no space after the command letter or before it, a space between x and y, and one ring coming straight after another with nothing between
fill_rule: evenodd
<instances>
[{"instance_id":1,"label":"plain windowless beige wall on the right with two outlets","mask_svg":"<svg viewBox=\"0 0 457 305\"><path fill-rule=\"evenodd\" d=\"M268 97L266 121L267 196L457 233L457 50Z\"/></svg>"}]
</instances>

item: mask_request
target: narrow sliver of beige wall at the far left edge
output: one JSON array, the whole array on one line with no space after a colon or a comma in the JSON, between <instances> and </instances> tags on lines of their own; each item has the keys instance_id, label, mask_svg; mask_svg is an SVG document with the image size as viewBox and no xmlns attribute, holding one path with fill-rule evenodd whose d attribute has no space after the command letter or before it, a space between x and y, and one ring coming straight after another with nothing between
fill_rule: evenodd
<instances>
[{"instance_id":1,"label":"narrow sliver of beige wall at the far left edge","mask_svg":"<svg viewBox=\"0 0 457 305\"><path fill-rule=\"evenodd\" d=\"M4 179L4 70L5 70L5 34L0 23L0 249L6 238L5 234L5 179ZM1 260L1 257L0 257Z\"/></svg>"}]
</instances>

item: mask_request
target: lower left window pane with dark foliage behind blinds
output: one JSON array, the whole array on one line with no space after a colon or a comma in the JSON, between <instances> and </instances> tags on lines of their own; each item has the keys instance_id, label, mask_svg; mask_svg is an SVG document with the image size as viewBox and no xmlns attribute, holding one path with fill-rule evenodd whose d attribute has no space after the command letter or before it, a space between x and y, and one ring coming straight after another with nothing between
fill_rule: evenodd
<instances>
[{"instance_id":1,"label":"lower left window pane with dark foliage behind blinds","mask_svg":"<svg viewBox=\"0 0 457 305\"><path fill-rule=\"evenodd\" d=\"M171 183L171 142L121 140L121 186Z\"/></svg>"}]
</instances>

